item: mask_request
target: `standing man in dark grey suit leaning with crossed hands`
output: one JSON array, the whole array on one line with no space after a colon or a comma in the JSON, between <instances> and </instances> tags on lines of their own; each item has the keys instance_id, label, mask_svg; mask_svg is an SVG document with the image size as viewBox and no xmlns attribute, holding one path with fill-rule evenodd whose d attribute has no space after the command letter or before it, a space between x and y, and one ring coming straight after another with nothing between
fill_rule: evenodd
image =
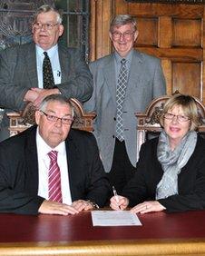
<instances>
[{"instance_id":1,"label":"standing man in dark grey suit leaning with crossed hands","mask_svg":"<svg viewBox=\"0 0 205 256\"><path fill-rule=\"evenodd\" d=\"M16 112L32 102L38 108L49 94L63 94L81 102L88 100L93 93L93 79L82 54L58 44L63 34L62 14L50 5L42 5L34 15L32 32L33 43L0 53L0 107ZM44 86L44 52L52 66L51 88ZM8 136L7 126L8 119L4 118L0 140Z\"/></svg>"}]
</instances>

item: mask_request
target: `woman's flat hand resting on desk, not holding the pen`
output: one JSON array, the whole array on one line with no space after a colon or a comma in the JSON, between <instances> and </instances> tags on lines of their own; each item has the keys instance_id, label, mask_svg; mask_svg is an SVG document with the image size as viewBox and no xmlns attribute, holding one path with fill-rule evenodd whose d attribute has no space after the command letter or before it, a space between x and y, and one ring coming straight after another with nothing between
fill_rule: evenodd
<instances>
[{"instance_id":1,"label":"woman's flat hand resting on desk, not holding the pen","mask_svg":"<svg viewBox=\"0 0 205 256\"><path fill-rule=\"evenodd\" d=\"M137 204L131 209L134 213L161 212L166 208L158 201L147 201Z\"/></svg>"}]
</instances>

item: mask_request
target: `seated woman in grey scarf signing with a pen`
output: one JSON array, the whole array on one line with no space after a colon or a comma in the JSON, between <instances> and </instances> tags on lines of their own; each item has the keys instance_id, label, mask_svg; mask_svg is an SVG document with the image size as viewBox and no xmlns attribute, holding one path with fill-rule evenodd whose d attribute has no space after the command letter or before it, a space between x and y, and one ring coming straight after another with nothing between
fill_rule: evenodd
<instances>
[{"instance_id":1,"label":"seated woman in grey scarf signing with a pen","mask_svg":"<svg viewBox=\"0 0 205 256\"><path fill-rule=\"evenodd\" d=\"M142 144L137 171L122 195L111 198L113 210L184 212L205 209L205 140L195 100L172 96L163 108L159 138Z\"/></svg>"}]
</instances>

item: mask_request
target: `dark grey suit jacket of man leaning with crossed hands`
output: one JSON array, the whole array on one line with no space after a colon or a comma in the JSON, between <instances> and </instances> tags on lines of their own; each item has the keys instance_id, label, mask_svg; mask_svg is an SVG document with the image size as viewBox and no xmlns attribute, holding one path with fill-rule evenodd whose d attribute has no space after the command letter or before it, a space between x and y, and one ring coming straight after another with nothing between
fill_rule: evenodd
<instances>
[{"instance_id":1,"label":"dark grey suit jacket of man leaning with crossed hands","mask_svg":"<svg viewBox=\"0 0 205 256\"><path fill-rule=\"evenodd\" d=\"M82 54L74 48L58 45L62 84L56 84L66 97L88 100L93 79ZM38 87L35 44L21 44L0 52L0 107L14 111L24 108L24 94ZM3 120L1 127L7 126Z\"/></svg>"}]
</instances>

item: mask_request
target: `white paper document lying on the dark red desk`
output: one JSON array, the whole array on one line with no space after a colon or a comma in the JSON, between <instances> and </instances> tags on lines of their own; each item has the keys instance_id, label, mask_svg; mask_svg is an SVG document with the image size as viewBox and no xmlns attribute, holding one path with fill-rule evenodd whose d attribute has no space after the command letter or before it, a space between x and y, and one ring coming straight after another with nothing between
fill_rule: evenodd
<instances>
[{"instance_id":1,"label":"white paper document lying on the dark red desk","mask_svg":"<svg viewBox=\"0 0 205 256\"><path fill-rule=\"evenodd\" d=\"M139 218L130 211L92 211L93 226L141 226Z\"/></svg>"}]
</instances>

